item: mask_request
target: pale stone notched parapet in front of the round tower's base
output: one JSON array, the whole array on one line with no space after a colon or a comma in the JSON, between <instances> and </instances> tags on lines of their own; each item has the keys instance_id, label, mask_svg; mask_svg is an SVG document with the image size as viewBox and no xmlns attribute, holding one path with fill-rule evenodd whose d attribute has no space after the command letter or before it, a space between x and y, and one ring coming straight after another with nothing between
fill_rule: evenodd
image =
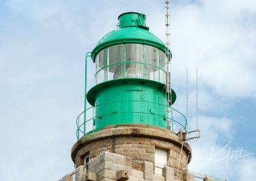
<instances>
[{"instance_id":1,"label":"pale stone notched parapet in front of the round tower's base","mask_svg":"<svg viewBox=\"0 0 256 181\"><path fill-rule=\"evenodd\" d=\"M74 181L175 181L174 169L168 166L163 168L163 175L155 175L153 164L143 161L141 171L132 169L131 157L121 156L110 152L104 152L90 160L88 170L85 166L76 169ZM73 181L70 174L61 180ZM194 181L193 174L186 173L182 180Z\"/></svg>"}]
</instances>

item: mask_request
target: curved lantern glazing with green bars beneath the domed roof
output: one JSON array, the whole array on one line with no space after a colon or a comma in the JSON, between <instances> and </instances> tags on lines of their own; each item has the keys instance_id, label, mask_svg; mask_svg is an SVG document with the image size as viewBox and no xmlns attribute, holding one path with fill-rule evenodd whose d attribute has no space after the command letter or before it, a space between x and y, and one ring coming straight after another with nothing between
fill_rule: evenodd
<instances>
[{"instance_id":1,"label":"curved lantern glazing with green bars beneath the domed roof","mask_svg":"<svg viewBox=\"0 0 256 181\"><path fill-rule=\"evenodd\" d=\"M96 57L96 83L117 78L145 78L165 83L164 52L142 44L122 44L108 47Z\"/></svg>"}]
</instances>

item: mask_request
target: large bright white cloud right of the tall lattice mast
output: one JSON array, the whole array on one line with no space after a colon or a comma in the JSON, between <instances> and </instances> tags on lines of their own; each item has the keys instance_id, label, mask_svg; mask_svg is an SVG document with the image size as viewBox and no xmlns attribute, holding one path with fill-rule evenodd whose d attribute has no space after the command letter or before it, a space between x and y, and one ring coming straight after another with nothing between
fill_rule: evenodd
<instances>
[{"instance_id":1,"label":"large bright white cloud right of the tall lattice mast","mask_svg":"<svg viewBox=\"0 0 256 181\"><path fill-rule=\"evenodd\" d=\"M173 74L180 75L184 69L176 69L177 64L190 70L198 66L200 83L210 86L216 94L231 99L255 99L255 25L247 24L244 28L243 19L250 14L243 11L249 6L235 2L236 9L232 9L227 4L204 1L173 10Z\"/></svg>"}]
</instances>

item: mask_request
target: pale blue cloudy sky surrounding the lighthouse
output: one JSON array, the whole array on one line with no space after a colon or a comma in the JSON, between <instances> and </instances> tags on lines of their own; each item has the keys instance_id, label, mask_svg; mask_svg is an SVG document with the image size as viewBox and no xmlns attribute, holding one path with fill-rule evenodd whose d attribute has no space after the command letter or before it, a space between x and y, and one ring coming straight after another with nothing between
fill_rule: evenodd
<instances>
[{"instance_id":1,"label":"pale blue cloudy sky surrounding the lighthouse","mask_svg":"<svg viewBox=\"0 0 256 181\"><path fill-rule=\"evenodd\" d=\"M0 2L0 180L58 180L74 170L70 150L83 111L84 54L116 29L127 11L147 15L164 40L164 0L2 0ZM256 170L256 3L171 3L174 107L186 113L189 170L250 180ZM92 87L93 69L88 87Z\"/></svg>"}]
</instances>

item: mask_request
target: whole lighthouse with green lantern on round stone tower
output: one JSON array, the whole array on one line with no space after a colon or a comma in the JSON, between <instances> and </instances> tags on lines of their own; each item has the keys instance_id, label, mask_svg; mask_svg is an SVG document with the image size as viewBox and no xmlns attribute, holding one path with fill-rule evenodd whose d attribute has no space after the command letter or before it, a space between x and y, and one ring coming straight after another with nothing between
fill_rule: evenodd
<instances>
[{"instance_id":1,"label":"whole lighthouse with green lantern on round stone tower","mask_svg":"<svg viewBox=\"0 0 256 181\"><path fill-rule=\"evenodd\" d=\"M146 15L119 15L117 29L86 54L86 65L90 57L95 73L86 66L86 82L94 77L95 85L85 86L77 117L76 180L194 180L187 120L173 108L172 54L150 33Z\"/></svg>"}]
</instances>

